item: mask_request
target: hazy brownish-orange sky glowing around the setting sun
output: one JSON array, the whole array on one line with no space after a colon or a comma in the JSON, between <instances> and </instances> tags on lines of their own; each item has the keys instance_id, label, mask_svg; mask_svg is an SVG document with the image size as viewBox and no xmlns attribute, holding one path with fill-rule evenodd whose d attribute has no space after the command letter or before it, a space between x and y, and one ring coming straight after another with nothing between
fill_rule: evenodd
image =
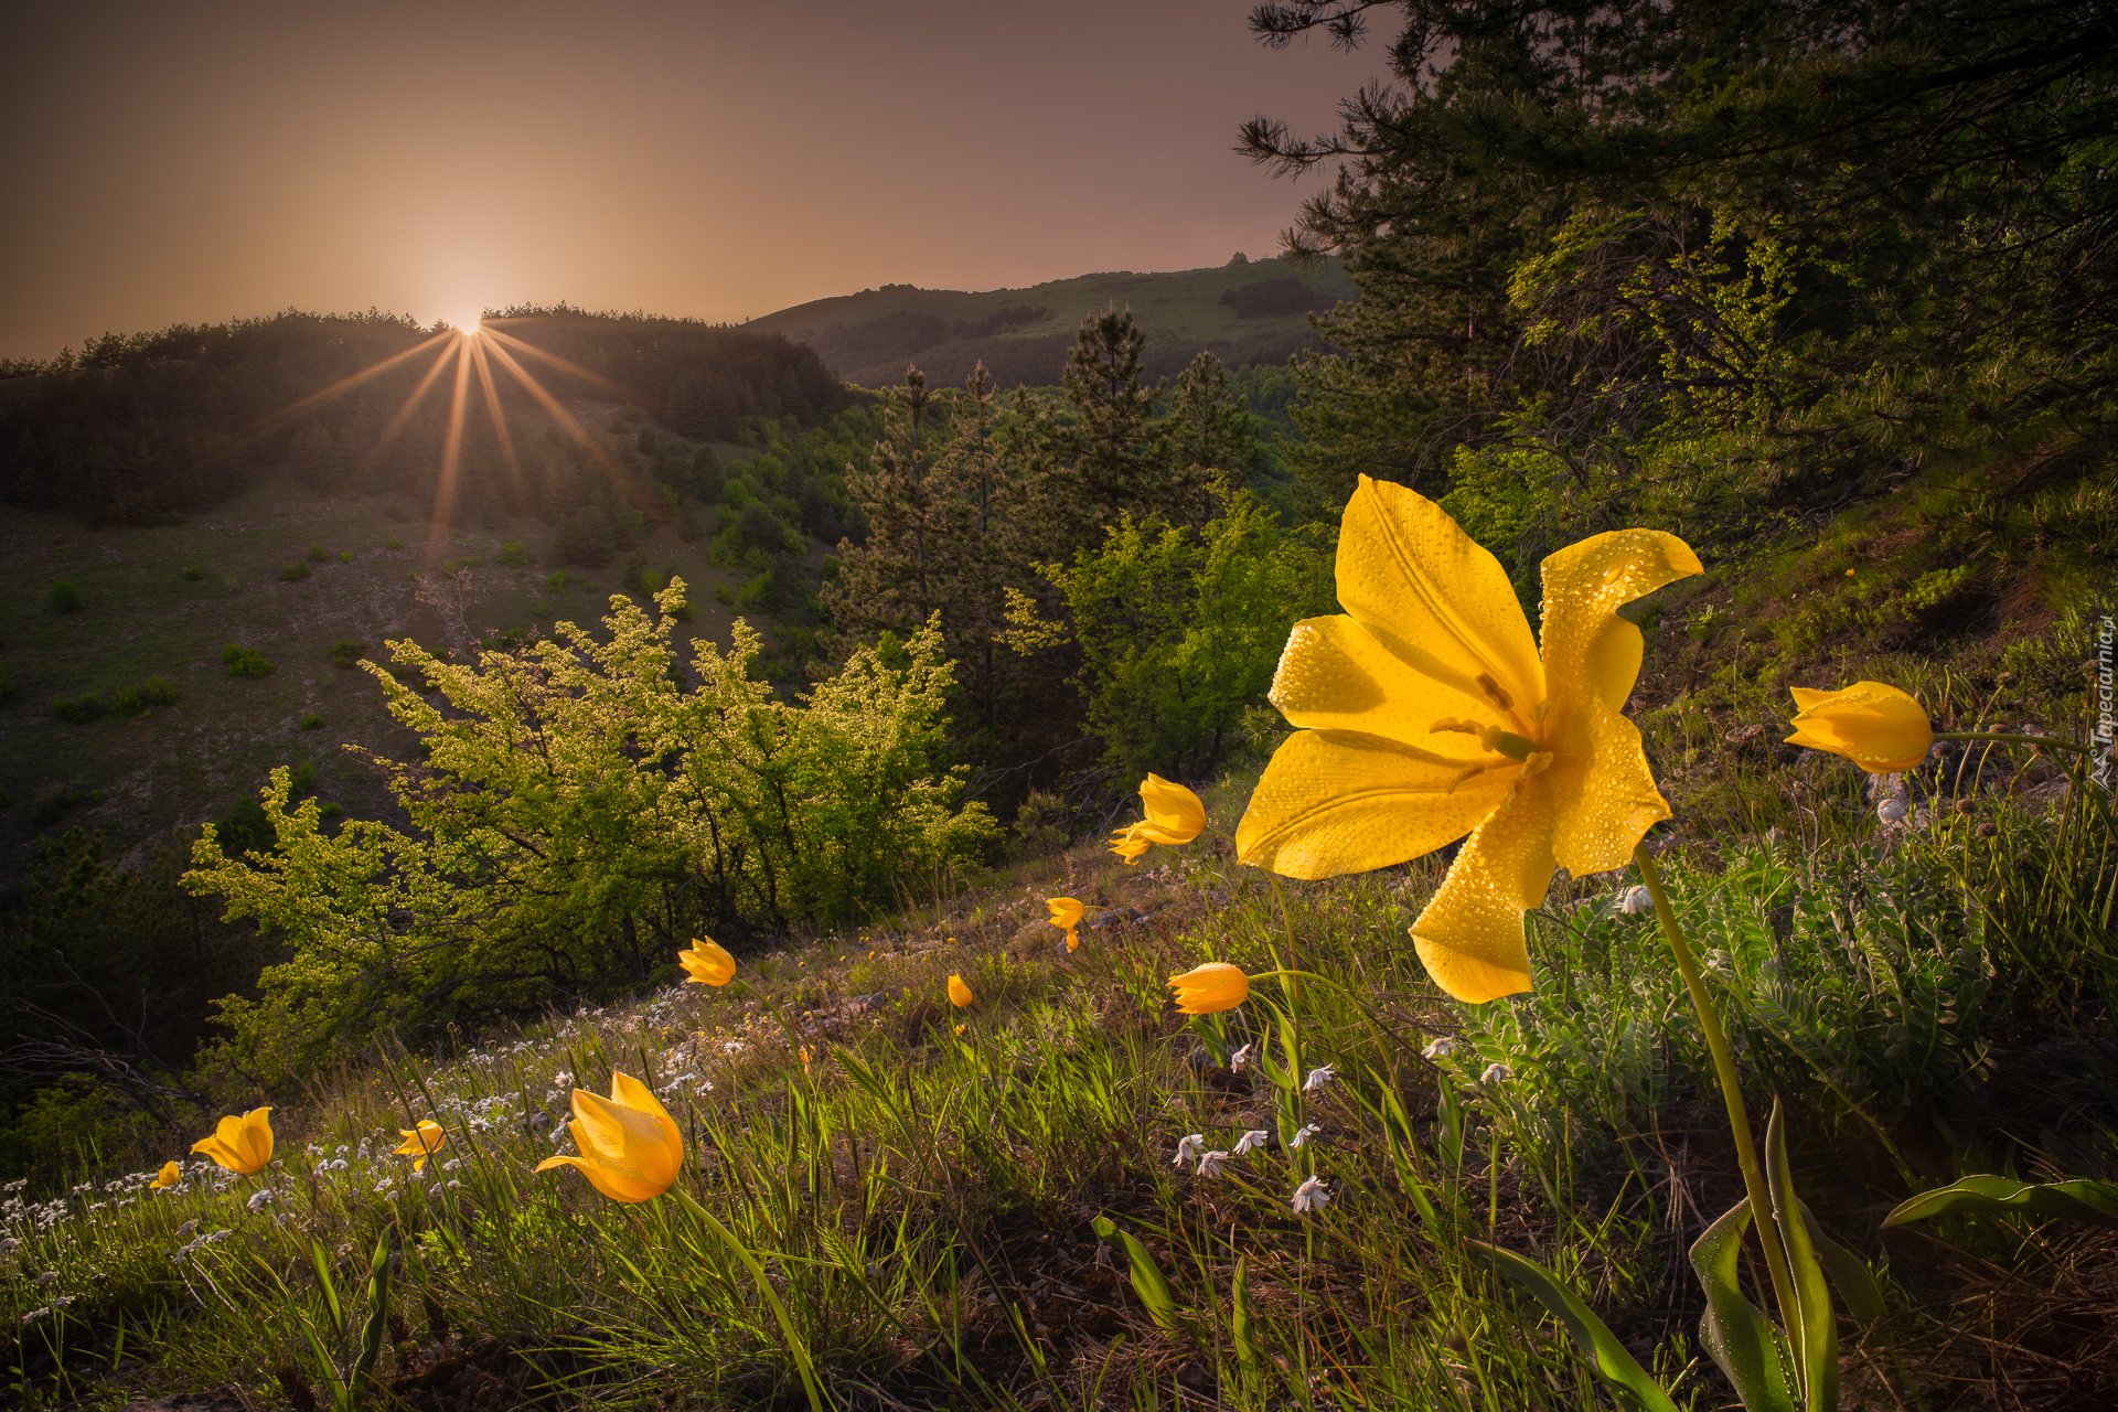
<instances>
[{"instance_id":1,"label":"hazy brownish-orange sky glowing around the setting sun","mask_svg":"<svg viewBox=\"0 0 2118 1412\"><path fill-rule=\"evenodd\" d=\"M1277 250L1383 70L1250 0L0 6L0 358L568 301L737 322Z\"/></svg>"}]
</instances>

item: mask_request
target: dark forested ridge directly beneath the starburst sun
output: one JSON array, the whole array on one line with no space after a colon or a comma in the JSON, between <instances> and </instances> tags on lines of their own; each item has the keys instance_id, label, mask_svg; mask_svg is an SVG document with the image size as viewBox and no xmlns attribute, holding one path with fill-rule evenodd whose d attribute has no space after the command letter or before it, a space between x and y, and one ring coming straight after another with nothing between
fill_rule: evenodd
<instances>
[{"instance_id":1,"label":"dark forested ridge directly beneath the starburst sun","mask_svg":"<svg viewBox=\"0 0 2118 1412\"><path fill-rule=\"evenodd\" d=\"M735 440L746 417L813 423L845 404L818 358L777 334L568 307L502 318L523 341L585 368L587 377L536 364L555 396L635 402L686 436ZM318 398L432 332L373 311L286 311L104 334L78 354L11 364L15 379L0 383L0 500L89 523L157 523L220 504L284 461L318 485L432 500L449 398L426 396L396 423L428 370L424 356ZM510 411L534 411L508 379L500 396ZM504 474L483 415L466 436L462 495L472 510L570 502L542 466L527 481Z\"/></svg>"}]
</instances>

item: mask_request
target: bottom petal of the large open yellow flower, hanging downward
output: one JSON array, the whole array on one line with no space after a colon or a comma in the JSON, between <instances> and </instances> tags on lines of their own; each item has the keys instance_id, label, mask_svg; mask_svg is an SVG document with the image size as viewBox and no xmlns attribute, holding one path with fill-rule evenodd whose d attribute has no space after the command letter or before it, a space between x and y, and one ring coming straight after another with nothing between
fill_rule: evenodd
<instances>
[{"instance_id":1,"label":"bottom petal of the large open yellow flower, hanging downward","mask_svg":"<svg viewBox=\"0 0 2118 1412\"><path fill-rule=\"evenodd\" d=\"M1525 779L1472 832L1411 927L1434 984L1474 1006L1529 989L1523 912L1544 902L1555 866L1552 798L1540 785Z\"/></svg>"}]
</instances>

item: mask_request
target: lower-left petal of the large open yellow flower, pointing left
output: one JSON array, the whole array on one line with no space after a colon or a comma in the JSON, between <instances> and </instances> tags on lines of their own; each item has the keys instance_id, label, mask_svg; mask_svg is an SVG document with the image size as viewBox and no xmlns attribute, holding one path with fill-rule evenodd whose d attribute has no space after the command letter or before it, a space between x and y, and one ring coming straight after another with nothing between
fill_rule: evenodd
<instances>
[{"instance_id":1,"label":"lower-left petal of the large open yellow flower, pointing left","mask_svg":"<svg viewBox=\"0 0 2118 1412\"><path fill-rule=\"evenodd\" d=\"M1497 764L1466 777L1459 758L1377 735L1296 732L1264 766L1235 853L1290 879L1402 864L1461 838L1500 807L1521 766Z\"/></svg>"}]
</instances>

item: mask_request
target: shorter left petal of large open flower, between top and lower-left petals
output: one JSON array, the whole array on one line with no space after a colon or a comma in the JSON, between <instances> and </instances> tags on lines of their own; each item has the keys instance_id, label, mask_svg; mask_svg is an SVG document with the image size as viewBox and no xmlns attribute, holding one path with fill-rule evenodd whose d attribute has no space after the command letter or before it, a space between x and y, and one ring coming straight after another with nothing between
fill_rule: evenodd
<instances>
[{"instance_id":1,"label":"shorter left petal of large open flower, between top and lower-left petals","mask_svg":"<svg viewBox=\"0 0 2118 1412\"><path fill-rule=\"evenodd\" d=\"M1425 675L1345 614L1294 624L1273 673L1271 703L1290 726L1358 730L1466 758L1483 754L1476 739L1436 732L1434 722L1502 724L1504 718L1483 688L1464 692Z\"/></svg>"}]
</instances>

